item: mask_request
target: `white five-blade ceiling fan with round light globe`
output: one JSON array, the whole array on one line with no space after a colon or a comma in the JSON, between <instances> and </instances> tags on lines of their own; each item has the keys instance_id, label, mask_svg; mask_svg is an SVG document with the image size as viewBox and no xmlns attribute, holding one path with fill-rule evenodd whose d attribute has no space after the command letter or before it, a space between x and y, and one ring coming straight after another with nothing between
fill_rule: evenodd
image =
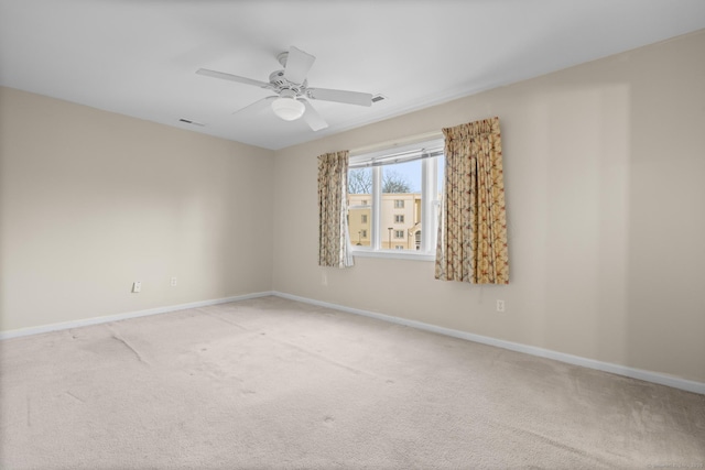
<instances>
[{"instance_id":1,"label":"white five-blade ceiling fan with round light globe","mask_svg":"<svg viewBox=\"0 0 705 470\"><path fill-rule=\"evenodd\" d=\"M272 90L276 95L262 98L236 112L260 110L267 106L271 106L274 114L285 121L293 121L303 117L304 121L306 121L314 131L327 128L328 123L314 109L311 102L308 102L308 99L358 106L372 105L372 95L370 94L328 88L308 88L306 74L316 59L316 57L311 54L306 54L291 46L289 52L279 54L276 59L284 69L272 72L269 76L269 83L223 72L209 70L207 68L199 68L196 70L196 74Z\"/></svg>"}]
</instances>

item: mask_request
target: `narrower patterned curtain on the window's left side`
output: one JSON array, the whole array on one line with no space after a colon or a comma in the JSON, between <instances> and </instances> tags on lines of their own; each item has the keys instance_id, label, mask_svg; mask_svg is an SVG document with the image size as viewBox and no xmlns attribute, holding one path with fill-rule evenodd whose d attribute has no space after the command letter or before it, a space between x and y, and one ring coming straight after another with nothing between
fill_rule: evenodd
<instances>
[{"instance_id":1,"label":"narrower patterned curtain on the window's left side","mask_svg":"<svg viewBox=\"0 0 705 470\"><path fill-rule=\"evenodd\" d=\"M347 218L348 151L318 156L318 265L352 263Z\"/></svg>"}]
</instances>

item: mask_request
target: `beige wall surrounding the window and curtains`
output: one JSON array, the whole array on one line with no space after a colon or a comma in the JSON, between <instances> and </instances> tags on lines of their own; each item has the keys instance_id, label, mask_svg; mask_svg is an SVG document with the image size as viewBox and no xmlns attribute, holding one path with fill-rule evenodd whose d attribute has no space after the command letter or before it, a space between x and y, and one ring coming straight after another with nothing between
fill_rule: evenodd
<instances>
[{"instance_id":1,"label":"beige wall surrounding the window and curtains","mask_svg":"<svg viewBox=\"0 0 705 470\"><path fill-rule=\"evenodd\" d=\"M704 382L704 54L699 32L276 152L274 289ZM317 266L317 155L492 116L510 285Z\"/></svg>"}]
</instances>

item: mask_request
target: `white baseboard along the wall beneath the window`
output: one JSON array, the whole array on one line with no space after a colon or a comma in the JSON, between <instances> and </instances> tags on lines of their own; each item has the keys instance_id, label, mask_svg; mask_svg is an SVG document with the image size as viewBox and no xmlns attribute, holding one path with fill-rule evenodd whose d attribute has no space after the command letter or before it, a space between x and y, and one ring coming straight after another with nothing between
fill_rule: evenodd
<instances>
[{"instance_id":1,"label":"white baseboard along the wall beneath the window","mask_svg":"<svg viewBox=\"0 0 705 470\"><path fill-rule=\"evenodd\" d=\"M404 325L408 327L417 328L426 331L433 331L440 335L446 335L454 338L479 342L482 345L496 346L498 348L509 349L511 351L517 351L517 352L524 352L527 354L538 356L540 358L554 359L556 361L566 362L568 364L582 365L584 368L595 369L604 372L610 372L614 374L623 375L631 379L653 382L661 385L671 386L673 389L685 390L687 392L699 393L705 395L705 383L703 382L695 382L695 381L680 379L672 375L644 371L642 369L634 369L626 365L596 361L594 359L581 358L579 356L572 356L563 352L552 351L550 349L536 348L535 346L528 346L528 345L521 345L518 342L505 341L502 339L474 335L471 332L455 330L451 328L444 328L444 327L440 327L431 324L424 324L422 321L408 320L404 318L392 317L390 315L383 315L375 311L361 310L359 308L350 308L344 305L330 304L327 302L321 302L312 298L300 297L297 295L285 294L283 292L275 291L272 294L278 297L288 298L290 300L297 300L306 304L318 305L321 307L327 307L327 308L333 308L340 311L346 311L349 314L362 315L366 317L377 318L383 321Z\"/></svg>"}]
</instances>

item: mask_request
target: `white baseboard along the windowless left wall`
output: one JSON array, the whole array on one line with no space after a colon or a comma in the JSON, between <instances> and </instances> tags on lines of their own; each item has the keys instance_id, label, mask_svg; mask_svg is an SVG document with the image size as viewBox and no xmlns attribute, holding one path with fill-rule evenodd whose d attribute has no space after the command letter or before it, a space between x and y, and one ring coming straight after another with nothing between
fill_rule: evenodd
<instances>
[{"instance_id":1,"label":"white baseboard along the windowless left wall","mask_svg":"<svg viewBox=\"0 0 705 470\"><path fill-rule=\"evenodd\" d=\"M147 310L127 311L117 315L107 315L105 317L86 318L74 321L62 321L58 324L42 325L39 327L19 328L13 330L0 331L0 340L19 338L22 336L40 335L43 332L64 330L69 328L85 327L88 325L108 324L110 321L127 320L128 318L145 317L149 315L167 314L170 311L185 310L188 308L207 307L208 305L227 304L229 302L246 300L248 298L265 297L275 295L273 292L258 292L254 294L236 295L234 297L214 298L210 300L191 302L188 304L171 305L169 307L156 307Z\"/></svg>"}]
</instances>

